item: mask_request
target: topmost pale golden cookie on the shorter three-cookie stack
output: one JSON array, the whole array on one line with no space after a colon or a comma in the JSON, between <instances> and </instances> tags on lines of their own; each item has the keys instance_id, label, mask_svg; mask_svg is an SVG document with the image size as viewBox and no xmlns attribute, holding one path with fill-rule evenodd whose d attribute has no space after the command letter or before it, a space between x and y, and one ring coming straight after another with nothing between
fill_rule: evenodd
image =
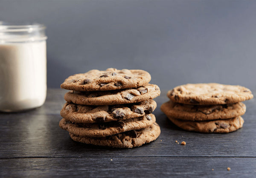
<instances>
[{"instance_id":1,"label":"topmost pale golden cookie on the shorter three-cookie stack","mask_svg":"<svg viewBox=\"0 0 256 178\"><path fill-rule=\"evenodd\" d=\"M167 93L174 102L184 104L228 104L253 98L250 89L239 85L197 83L177 86Z\"/></svg>"}]
</instances>

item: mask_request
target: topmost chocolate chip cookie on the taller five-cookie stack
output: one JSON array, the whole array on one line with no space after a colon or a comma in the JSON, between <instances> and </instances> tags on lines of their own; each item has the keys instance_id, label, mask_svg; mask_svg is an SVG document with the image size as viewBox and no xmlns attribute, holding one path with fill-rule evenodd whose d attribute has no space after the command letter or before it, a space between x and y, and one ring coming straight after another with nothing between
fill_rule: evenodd
<instances>
[{"instance_id":1,"label":"topmost chocolate chip cookie on the taller five-cookie stack","mask_svg":"<svg viewBox=\"0 0 256 178\"><path fill-rule=\"evenodd\" d=\"M74 91L116 90L143 86L150 80L150 74L144 70L108 68L71 75L61 84L61 88Z\"/></svg>"}]
</instances>

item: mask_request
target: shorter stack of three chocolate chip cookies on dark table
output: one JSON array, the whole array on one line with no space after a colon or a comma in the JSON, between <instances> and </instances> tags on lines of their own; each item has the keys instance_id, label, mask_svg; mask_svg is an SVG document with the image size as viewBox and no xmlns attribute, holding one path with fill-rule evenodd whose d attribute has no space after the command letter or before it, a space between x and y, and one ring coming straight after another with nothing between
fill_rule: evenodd
<instances>
[{"instance_id":1,"label":"shorter stack of three chocolate chip cookies on dark table","mask_svg":"<svg viewBox=\"0 0 256 178\"><path fill-rule=\"evenodd\" d=\"M253 98L242 86L198 83L177 86L167 93L161 110L182 129L204 133L228 133L243 126L246 106Z\"/></svg>"}]
</instances>

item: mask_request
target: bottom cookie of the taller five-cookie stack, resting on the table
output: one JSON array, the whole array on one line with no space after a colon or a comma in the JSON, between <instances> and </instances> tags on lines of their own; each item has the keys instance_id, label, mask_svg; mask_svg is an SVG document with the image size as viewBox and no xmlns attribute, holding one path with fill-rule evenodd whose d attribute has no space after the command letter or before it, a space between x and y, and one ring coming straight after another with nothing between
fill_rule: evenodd
<instances>
[{"instance_id":1,"label":"bottom cookie of the taller five-cookie stack, resting on the table","mask_svg":"<svg viewBox=\"0 0 256 178\"><path fill-rule=\"evenodd\" d=\"M133 148L156 140L160 135L160 132L160 126L157 123L153 123L151 126L148 126L143 129L122 132L107 137L79 137L71 133L70 137L74 141L78 141L85 144L111 146L116 148Z\"/></svg>"}]
</instances>

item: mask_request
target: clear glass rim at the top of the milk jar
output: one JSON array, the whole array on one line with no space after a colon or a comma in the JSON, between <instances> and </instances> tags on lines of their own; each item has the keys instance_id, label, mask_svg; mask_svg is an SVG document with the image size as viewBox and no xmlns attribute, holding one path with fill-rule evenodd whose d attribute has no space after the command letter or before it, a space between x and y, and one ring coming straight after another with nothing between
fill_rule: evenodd
<instances>
[{"instance_id":1,"label":"clear glass rim at the top of the milk jar","mask_svg":"<svg viewBox=\"0 0 256 178\"><path fill-rule=\"evenodd\" d=\"M34 32L43 29L46 29L46 26L40 23L23 23L17 25L15 23L0 21L0 32Z\"/></svg>"}]
</instances>

